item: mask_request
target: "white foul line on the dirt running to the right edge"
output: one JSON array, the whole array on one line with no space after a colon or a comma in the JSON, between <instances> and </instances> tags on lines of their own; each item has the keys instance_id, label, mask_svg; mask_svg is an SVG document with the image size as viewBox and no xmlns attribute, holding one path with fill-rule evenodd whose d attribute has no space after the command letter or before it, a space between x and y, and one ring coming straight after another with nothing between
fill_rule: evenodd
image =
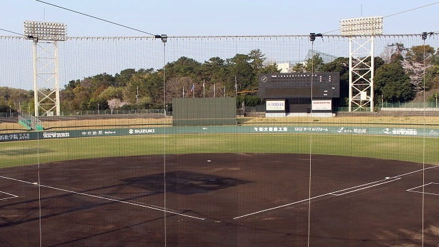
<instances>
[{"instance_id":1,"label":"white foul line on the dirt running to the right edge","mask_svg":"<svg viewBox=\"0 0 439 247\"><path fill-rule=\"evenodd\" d=\"M255 215L255 214L258 214L258 213L263 213L263 212L266 212L266 211L272 211L272 210L274 210L274 209L281 209L281 208L283 208L283 207L288 207L288 206L291 206L291 205L294 205L294 204L298 204L298 203L300 203L300 202L308 202L309 200L314 200L314 199L316 199L316 198L320 198L320 197L323 197L323 196L341 196L341 195L344 195L344 194L346 194L346 193L351 193L351 192L354 192L354 191L359 191L359 190L361 190L361 189L367 189L367 188L374 187L374 186L377 186L377 185L383 185L383 184L385 184L385 183L390 183L390 182L393 182L393 181L396 181L396 180L401 179L401 178L400 178L401 176L407 176L407 175L409 175L409 174L414 174L414 173L416 173L416 172L422 172L423 170L431 169L431 168L437 168L437 167L438 167L438 166L427 167L427 168L425 168L425 169L418 169L417 171L414 171L414 172L407 172L406 174L401 174L401 175L399 175L399 176L386 177L386 178L383 179L383 180L377 180L377 181L372 182L372 183L366 183L366 184L364 184L364 185L357 185L357 186L350 187L350 188L347 188L347 189L341 189L341 190L339 190L339 191L333 191L333 192L330 192L330 193L326 193L326 194L323 194L323 195L320 195L320 196L314 196L314 197L312 197L312 198L307 198L307 199L300 200L300 201L297 201L297 202L292 202L292 203L288 203L288 204L283 204L283 205L281 205L281 206L272 207L272 208L270 208L270 209L263 209L263 210L256 211L256 212L253 212L253 213L247 213L247 214L245 214L245 215L241 215L241 216L234 217L233 220L237 220L237 219L239 219L239 218L241 218L241 217L247 217L247 216L250 216L250 215ZM383 181L386 181L386 182L383 182ZM379 183L379 182L383 182L383 183ZM378 183L378 184L376 184L376 183ZM375 184L375 185L372 185L372 184ZM366 185L370 185L370 186L366 186ZM366 186L366 187L364 187L364 186ZM357 187L361 187L361 188L360 188L360 189L355 189L355 190L353 190L353 191L348 191L348 192L345 192L345 193L337 193L337 192L340 192L340 191L346 191L346 190L354 189L354 188L357 188Z\"/></svg>"}]
</instances>

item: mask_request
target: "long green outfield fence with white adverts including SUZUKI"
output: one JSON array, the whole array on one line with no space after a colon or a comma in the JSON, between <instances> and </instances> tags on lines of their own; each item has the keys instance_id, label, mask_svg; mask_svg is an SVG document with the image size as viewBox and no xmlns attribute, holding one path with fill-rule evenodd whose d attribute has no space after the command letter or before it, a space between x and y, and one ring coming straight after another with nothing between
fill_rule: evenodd
<instances>
[{"instance_id":1,"label":"long green outfield fence with white adverts including SUZUKI","mask_svg":"<svg viewBox=\"0 0 439 247\"><path fill-rule=\"evenodd\" d=\"M216 133L316 133L376 134L382 136L439 137L437 129L352 127L352 126L187 126L165 128L121 128L104 130L67 130L0 134L0 143L80 137L117 137L152 134L216 134Z\"/></svg>"}]
</instances>

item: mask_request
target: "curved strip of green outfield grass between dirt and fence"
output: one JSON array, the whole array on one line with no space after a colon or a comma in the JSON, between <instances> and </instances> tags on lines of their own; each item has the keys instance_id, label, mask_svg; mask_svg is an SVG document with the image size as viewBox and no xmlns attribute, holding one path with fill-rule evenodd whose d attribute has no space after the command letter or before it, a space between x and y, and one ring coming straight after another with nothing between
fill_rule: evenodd
<instances>
[{"instance_id":1,"label":"curved strip of green outfield grass between dirt and fence","mask_svg":"<svg viewBox=\"0 0 439 247\"><path fill-rule=\"evenodd\" d=\"M439 164L438 139L338 134L178 134L0 143L0 167L80 158L191 153L297 153Z\"/></svg>"}]
</instances>

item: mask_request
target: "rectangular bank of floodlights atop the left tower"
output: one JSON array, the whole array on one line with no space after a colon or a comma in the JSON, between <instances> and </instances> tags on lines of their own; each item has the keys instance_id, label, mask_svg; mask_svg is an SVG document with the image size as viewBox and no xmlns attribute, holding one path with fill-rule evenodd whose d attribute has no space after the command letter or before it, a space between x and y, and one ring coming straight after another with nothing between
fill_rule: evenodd
<instances>
[{"instance_id":1,"label":"rectangular bank of floodlights atop the left tower","mask_svg":"<svg viewBox=\"0 0 439 247\"><path fill-rule=\"evenodd\" d=\"M25 36L33 40L67 40L67 26L64 23L47 21L25 21Z\"/></svg>"}]
</instances>

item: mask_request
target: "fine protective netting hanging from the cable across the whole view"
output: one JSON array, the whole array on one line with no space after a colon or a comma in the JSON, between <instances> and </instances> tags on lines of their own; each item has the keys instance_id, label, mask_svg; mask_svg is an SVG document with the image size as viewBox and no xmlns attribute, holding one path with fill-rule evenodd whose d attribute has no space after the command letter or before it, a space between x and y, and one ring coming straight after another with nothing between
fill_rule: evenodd
<instances>
[{"instance_id":1,"label":"fine protective netting hanging from the cable across the whole view","mask_svg":"<svg viewBox=\"0 0 439 247\"><path fill-rule=\"evenodd\" d=\"M372 111L348 112L345 86L333 117L264 117L263 103L239 102L236 125L172 126L172 99L257 91L243 72L251 66L213 74L208 64L236 65L246 55L249 64L263 58L263 67L276 63L288 72L312 62L312 73L322 69L318 62L348 62L349 42L327 35L69 37L57 43L61 112L38 117L42 130L27 130L18 114L34 113L33 49L54 44L0 37L0 102L9 106L0 118L0 241L438 245L437 34L375 36L381 79ZM404 90L391 95L382 84L398 79L396 69L378 69L396 55L413 85L410 103L393 98L403 99ZM341 63L326 68L340 71ZM124 79L127 69L134 71ZM96 78L111 83L99 88ZM114 108L98 100L110 86L123 86L106 92L119 100Z\"/></svg>"}]
</instances>

